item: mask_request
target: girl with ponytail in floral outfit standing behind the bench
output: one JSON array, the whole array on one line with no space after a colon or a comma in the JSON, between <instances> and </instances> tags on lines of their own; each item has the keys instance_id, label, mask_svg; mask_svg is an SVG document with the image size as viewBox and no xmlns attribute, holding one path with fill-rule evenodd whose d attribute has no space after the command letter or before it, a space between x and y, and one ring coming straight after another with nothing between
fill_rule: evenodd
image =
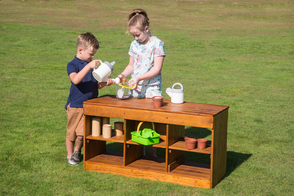
<instances>
[{"instance_id":1,"label":"girl with ponytail in floral outfit standing behind the bench","mask_svg":"<svg viewBox=\"0 0 294 196\"><path fill-rule=\"evenodd\" d=\"M166 54L163 42L150 32L146 11L134 9L130 12L128 32L135 40L132 41L128 52L130 55L128 66L118 77L122 80L131 75L129 86L134 85L131 91L133 97L162 96L161 68Z\"/></svg>"}]
</instances>

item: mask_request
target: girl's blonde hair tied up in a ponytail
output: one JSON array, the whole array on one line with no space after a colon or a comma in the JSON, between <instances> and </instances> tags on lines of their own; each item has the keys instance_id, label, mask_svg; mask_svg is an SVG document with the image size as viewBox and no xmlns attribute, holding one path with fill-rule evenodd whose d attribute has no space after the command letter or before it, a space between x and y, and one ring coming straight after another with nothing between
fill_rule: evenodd
<instances>
[{"instance_id":1,"label":"girl's blonde hair tied up in a ponytail","mask_svg":"<svg viewBox=\"0 0 294 196\"><path fill-rule=\"evenodd\" d=\"M143 32L146 26L149 27L149 19L146 11L140 8L133 9L128 15L128 29L136 27Z\"/></svg>"}]
</instances>

